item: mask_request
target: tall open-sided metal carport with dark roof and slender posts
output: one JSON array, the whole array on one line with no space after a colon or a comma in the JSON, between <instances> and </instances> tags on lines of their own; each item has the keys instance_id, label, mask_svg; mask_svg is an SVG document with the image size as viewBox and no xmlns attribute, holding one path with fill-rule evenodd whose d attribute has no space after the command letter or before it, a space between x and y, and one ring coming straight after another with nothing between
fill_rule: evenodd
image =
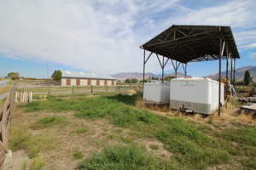
<instances>
[{"instance_id":1,"label":"tall open-sided metal carport with dark roof and slender posts","mask_svg":"<svg viewBox=\"0 0 256 170\"><path fill-rule=\"evenodd\" d=\"M236 59L239 59L240 55L230 26L173 25L144 43L140 48L144 49L143 82L145 81L145 65L153 54L160 63L162 81L164 80L164 69L169 60L172 62L176 76L179 65L183 66L186 76L189 62L217 59L219 60L219 80L221 80L221 59L226 59L226 79L229 78L230 60L230 82L235 82ZM150 52L148 56L146 56L146 51ZM160 55L162 59L160 59ZM220 83L221 81L219 81L218 90L218 115L220 115L221 107Z\"/></svg>"}]
</instances>

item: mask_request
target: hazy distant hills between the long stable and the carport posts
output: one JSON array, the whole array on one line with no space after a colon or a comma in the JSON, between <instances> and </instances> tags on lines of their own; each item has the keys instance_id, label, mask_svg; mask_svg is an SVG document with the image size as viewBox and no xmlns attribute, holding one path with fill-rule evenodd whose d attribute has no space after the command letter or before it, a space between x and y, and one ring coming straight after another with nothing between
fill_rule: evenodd
<instances>
[{"instance_id":1,"label":"hazy distant hills between the long stable and the carport posts","mask_svg":"<svg viewBox=\"0 0 256 170\"><path fill-rule=\"evenodd\" d=\"M114 77L118 80L125 80L127 78L137 78L138 80L142 80L143 79L143 73L140 72L121 72L121 73L117 73L117 74L113 74L110 75L111 77ZM165 74L166 76L174 76L174 73L172 74ZM161 75L158 74L154 74L152 72L147 72L145 73L145 78L148 77L162 77ZM177 77L184 77L184 74L182 72L177 72Z\"/></svg>"}]
</instances>

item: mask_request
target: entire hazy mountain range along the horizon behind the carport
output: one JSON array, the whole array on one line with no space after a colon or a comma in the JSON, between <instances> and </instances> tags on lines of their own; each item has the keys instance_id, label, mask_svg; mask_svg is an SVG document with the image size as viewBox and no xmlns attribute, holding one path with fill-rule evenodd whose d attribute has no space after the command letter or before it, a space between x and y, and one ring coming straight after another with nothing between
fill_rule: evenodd
<instances>
[{"instance_id":1,"label":"entire hazy mountain range along the horizon behind the carport","mask_svg":"<svg viewBox=\"0 0 256 170\"><path fill-rule=\"evenodd\" d=\"M253 66L253 65L244 66L244 67L236 69L236 81L243 80L245 71L249 71L251 73L251 76L253 77L253 82L256 82L256 66ZM225 77L225 75L226 75L225 71L223 71L221 74L222 74L222 77ZM174 76L174 73L167 74L167 75L165 75L165 77L166 76ZM230 71L229 71L229 76L230 76ZM125 80L126 78L137 78L138 80L142 80L143 79L143 73L140 73L140 72L120 72L120 73L111 75L111 77L114 77L118 80ZM154 74L152 72L147 72L147 73L145 73L145 78L148 78L148 77L161 77L161 75ZM177 72L177 77L184 77L183 72ZM210 77L213 80L217 80L218 79L218 73L209 75L207 77Z\"/></svg>"}]
</instances>

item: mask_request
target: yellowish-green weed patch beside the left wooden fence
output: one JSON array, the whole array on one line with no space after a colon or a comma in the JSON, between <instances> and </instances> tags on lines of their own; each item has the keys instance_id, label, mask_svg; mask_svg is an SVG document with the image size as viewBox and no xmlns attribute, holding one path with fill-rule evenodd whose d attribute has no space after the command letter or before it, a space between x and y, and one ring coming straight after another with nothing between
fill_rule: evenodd
<instances>
[{"instance_id":1,"label":"yellowish-green weed patch beside the left wooden fence","mask_svg":"<svg viewBox=\"0 0 256 170\"><path fill-rule=\"evenodd\" d=\"M11 129L9 139L10 150L26 150L31 158L36 157L43 150L52 149L52 138L49 135L32 135L25 127Z\"/></svg>"}]
</instances>

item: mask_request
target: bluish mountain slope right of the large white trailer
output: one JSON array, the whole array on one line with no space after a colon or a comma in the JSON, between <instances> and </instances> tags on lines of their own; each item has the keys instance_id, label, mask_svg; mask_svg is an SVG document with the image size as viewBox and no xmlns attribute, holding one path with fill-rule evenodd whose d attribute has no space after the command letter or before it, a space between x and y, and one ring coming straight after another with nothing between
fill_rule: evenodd
<instances>
[{"instance_id":1,"label":"bluish mountain slope right of the large white trailer","mask_svg":"<svg viewBox=\"0 0 256 170\"><path fill-rule=\"evenodd\" d=\"M241 68L236 69L236 81L242 81L244 77L245 71L249 71L251 73L251 76L253 77L253 82L256 82L256 66L244 66ZM226 77L226 72L221 72L222 77ZM209 75L208 77L212 78L213 80L218 80L218 73ZM230 77L230 71L229 71L229 77Z\"/></svg>"}]
</instances>

